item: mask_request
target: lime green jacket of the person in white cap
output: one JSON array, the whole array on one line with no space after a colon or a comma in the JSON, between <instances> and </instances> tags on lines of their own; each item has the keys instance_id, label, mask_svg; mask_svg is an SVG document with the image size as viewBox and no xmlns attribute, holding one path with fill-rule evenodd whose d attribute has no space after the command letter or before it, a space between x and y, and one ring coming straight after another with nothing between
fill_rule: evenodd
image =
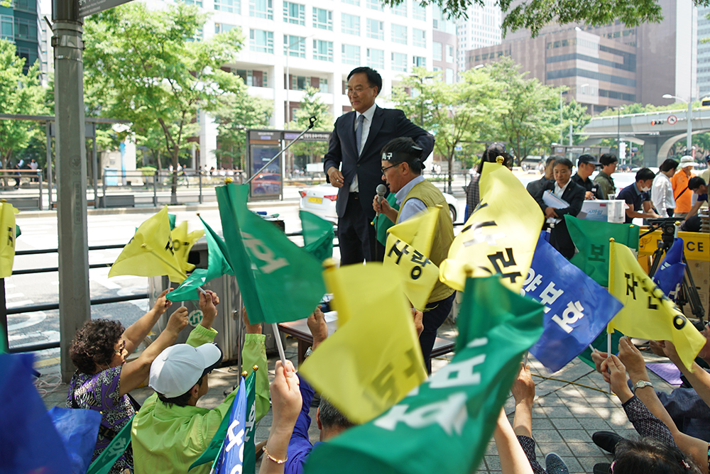
<instances>
[{"instance_id":1,"label":"lime green jacket of the person in white cap","mask_svg":"<svg viewBox=\"0 0 710 474\"><path fill-rule=\"evenodd\" d=\"M197 326L187 338L190 346L197 347L211 343L217 336L214 329ZM263 334L247 334L242 351L244 370L251 373L253 365L256 371L256 421L268 412L268 370ZM200 407L168 407L151 395L143 407L133 417L131 426L131 444L133 445L134 474L169 474L187 473L190 465L207 449L209 441L217 432L224 417L229 416L231 402L237 390L231 392L224 402L214 409ZM190 471L190 474L208 474L210 463Z\"/></svg>"}]
</instances>

